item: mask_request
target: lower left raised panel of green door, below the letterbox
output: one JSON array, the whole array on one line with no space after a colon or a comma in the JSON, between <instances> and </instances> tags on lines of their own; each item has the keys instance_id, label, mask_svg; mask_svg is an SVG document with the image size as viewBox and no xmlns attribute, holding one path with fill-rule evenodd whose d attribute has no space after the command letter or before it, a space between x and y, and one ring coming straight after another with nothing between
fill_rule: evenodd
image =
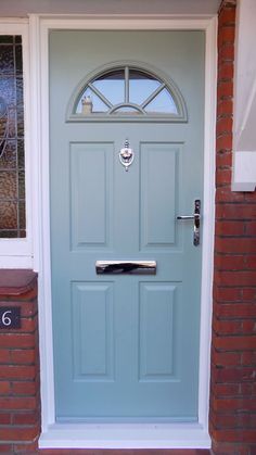
<instances>
[{"instance_id":1,"label":"lower left raised panel of green door, below the letterbox","mask_svg":"<svg viewBox=\"0 0 256 455\"><path fill-rule=\"evenodd\" d=\"M113 283L72 283L74 379L114 379Z\"/></svg>"}]
</instances>

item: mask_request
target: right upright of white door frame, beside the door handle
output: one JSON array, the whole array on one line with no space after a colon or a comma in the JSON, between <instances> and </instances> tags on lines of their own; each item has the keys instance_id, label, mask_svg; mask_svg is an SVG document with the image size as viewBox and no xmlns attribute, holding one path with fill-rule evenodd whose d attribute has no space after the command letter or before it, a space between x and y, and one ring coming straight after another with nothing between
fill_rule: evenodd
<instances>
[{"instance_id":1,"label":"right upright of white door frame, beside the door handle","mask_svg":"<svg viewBox=\"0 0 256 455\"><path fill-rule=\"evenodd\" d=\"M205 126L204 126L204 204L202 236L202 286L200 333L199 421L208 430L210 341L213 315L215 167L216 167L216 93L217 93L217 17L206 27L205 48Z\"/></svg>"}]
</instances>

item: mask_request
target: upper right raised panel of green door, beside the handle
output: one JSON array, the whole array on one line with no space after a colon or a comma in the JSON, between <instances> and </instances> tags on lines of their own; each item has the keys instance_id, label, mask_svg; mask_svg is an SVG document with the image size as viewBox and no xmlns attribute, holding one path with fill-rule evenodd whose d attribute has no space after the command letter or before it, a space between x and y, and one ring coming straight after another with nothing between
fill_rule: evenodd
<instances>
[{"instance_id":1,"label":"upper right raised panel of green door, beside the handle","mask_svg":"<svg viewBox=\"0 0 256 455\"><path fill-rule=\"evenodd\" d=\"M181 144L141 144L141 250L174 248Z\"/></svg>"}]
</instances>

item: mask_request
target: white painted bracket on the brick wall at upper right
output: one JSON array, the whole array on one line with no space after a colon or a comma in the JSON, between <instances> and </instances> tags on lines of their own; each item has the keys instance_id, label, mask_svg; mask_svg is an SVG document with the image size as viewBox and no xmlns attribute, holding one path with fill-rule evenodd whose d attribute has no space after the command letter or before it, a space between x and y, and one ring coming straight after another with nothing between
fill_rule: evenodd
<instances>
[{"instance_id":1,"label":"white painted bracket on the brick wall at upper right","mask_svg":"<svg viewBox=\"0 0 256 455\"><path fill-rule=\"evenodd\" d=\"M256 1L240 0L236 10L233 182L234 191L256 187Z\"/></svg>"}]
</instances>

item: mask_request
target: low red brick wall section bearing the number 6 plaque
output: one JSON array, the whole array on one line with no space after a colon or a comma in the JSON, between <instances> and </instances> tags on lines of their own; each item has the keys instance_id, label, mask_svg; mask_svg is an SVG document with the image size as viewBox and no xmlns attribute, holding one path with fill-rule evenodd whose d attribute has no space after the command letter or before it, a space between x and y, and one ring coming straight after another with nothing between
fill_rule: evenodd
<instances>
[{"instance_id":1,"label":"low red brick wall section bearing the number 6 plaque","mask_svg":"<svg viewBox=\"0 0 256 455\"><path fill-rule=\"evenodd\" d=\"M0 326L0 454L35 454L40 433L35 273L0 270L0 309L3 307L21 308L21 328ZM3 317L7 324L9 316Z\"/></svg>"}]
</instances>

